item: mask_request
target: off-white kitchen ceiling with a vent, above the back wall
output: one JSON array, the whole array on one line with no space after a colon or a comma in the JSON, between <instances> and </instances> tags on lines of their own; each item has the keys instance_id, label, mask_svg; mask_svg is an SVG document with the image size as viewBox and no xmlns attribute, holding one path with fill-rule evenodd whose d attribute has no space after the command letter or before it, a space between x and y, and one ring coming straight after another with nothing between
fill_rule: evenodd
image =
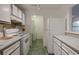
<instances>
[{"instance_id":1,"label":"off-white kitchen ceiling with a vent, above the back wall","mask_svg":"<svg viewBox=\"0 0 79 59\"><path fill-rule=\"evenodd\" d=\"M19 4L24 10L60 10L69 4Z\"/></svg>"}]
</instances>

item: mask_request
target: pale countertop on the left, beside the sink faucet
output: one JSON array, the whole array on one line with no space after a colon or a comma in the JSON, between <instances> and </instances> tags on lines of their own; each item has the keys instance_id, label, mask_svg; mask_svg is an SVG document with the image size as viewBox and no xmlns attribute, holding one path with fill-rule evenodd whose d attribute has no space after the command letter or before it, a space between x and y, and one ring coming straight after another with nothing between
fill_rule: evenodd
<instances>
[{"instance_id":1,"label":"pale countertop on the left, beside the sink faucet","mask_svg":"<svg viewBox=\"0 0 79 59\"><path fill-rule=\"evenodd\" d=\"M11 44L21 40L22 39L22 35L24 35L24 34L27 34L27 33L22 33L20 35L13 36L11 39L0 40L0 51L4 50L6 47L10 46Z\"/></svg>"}]
</instances>

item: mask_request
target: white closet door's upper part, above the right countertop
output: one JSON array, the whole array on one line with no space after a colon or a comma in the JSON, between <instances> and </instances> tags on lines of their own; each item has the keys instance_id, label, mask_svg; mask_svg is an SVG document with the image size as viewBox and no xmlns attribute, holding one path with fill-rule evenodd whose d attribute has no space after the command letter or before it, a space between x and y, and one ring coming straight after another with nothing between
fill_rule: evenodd
<instances>
[{"instance_id":1,"label":"white closet door's upper part, above the right countertop","mask_svg":"<svg viewBox=\"0 0 79 59\"><path fill-rule=\"evenodd\" d=\"M65 18L50 18L50 33L64 34L65 32Z\"/></svg>"}]
</instances>

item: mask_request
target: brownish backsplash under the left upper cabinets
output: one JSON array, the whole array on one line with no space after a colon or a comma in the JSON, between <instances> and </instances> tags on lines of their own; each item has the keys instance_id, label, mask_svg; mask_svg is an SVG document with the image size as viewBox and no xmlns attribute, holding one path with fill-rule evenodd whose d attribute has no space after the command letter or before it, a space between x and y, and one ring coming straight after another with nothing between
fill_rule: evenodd
<instances>
[{"instance_id":1,"label":"brownish backsplash under the left upper cabinets","mask_svg":"<svg viewBox=\"0 0 79 59\"><path fill-rule=\"evenodd\" d=\"M0 24L0 34L3 33L3 25L5 29L19 29L19 32L29 32L29 26L23 26L21 24L11 23L11 24Z\"/></svg>"}]
</instances>

